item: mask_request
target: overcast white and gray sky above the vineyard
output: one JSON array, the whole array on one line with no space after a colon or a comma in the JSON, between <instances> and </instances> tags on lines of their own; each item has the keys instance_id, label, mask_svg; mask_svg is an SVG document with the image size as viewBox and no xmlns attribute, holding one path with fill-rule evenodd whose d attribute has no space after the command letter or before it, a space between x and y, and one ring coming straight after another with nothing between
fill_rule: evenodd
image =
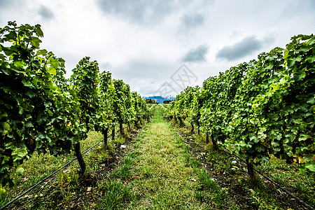
<instances>
[{"instance_id":1,"label":"overcast white and gray sky above the vineyard","mask_svg":"<svg viewBox=\"0 0 315 210\"><path fill-rule=\"evenodd\" d=\"M315 0L0 0L0 27L40 24L41 48L85 56L142 96L176 95L315 32Z\"/></svg>"}]
</instances>

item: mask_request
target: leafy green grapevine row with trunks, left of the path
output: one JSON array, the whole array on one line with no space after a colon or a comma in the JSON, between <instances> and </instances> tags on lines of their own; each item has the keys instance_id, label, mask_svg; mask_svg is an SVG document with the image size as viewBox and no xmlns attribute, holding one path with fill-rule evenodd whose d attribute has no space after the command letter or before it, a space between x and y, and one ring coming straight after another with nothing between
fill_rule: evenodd
<instances>
[{"instance_id":1,"label":"leafy green grapevine row with trunks, left of the path","mask_svg":"<svg viewBox=\"0 0 315 210\"><path fill-rule=\"evenodd\" d=\"M0 195L22 174L22 162L34 151L66 155L74 151L85 172L80 140L95 130L104 134L123 124L141 125L151 109L123 80L100 73L96 61L84 57L69 79L64 59L40 49L40 25L8 22L0 28Z\"/></svg>"}]
</instances>

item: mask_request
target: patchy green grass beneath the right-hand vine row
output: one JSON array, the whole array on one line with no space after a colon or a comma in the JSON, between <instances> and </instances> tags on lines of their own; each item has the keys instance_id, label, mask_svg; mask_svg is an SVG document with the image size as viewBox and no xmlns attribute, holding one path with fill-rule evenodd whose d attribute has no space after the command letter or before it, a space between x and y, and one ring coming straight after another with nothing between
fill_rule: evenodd
<instances>
[{"instance_id":1,"label":"patchy green grass beneath the right-hand vine row","mask_svg":"<svg viewBox=\"0 0 315 210\"><path fill-rule=\"evenodd\" d=\"M171 123L174 122L171 121ZM187 121L184 121L184 123L185 125L190 125ZM173 125L174 127L176 127L177 130L181 130L181 132L185 134L186 138L193 139L193 142L195 142L197 146L200 146L201 148L204 148L204 151L207 151L207 162L209 162L209 164L211 163L211 165L208 165L207 170L211 172L211 174L235 174L233 179L238 183L233 181L232 185L226 187L228 192L230 192L230 188L234 188L235 185L237 185L240 190L246 192L243 195L245 201L255 204L256 207L258 207L259 209L288 209L288 207L291 207L291 204L293 203L295 205L295 207L292 207L293 209L302 207L298 202L291 200L291 197L281 197L281 195L283 195L281 193L281 190L277 190L277 188L272 186L272 184L269 184L267 186L267 183L269 182L262 177L258 176L260 177L260 179L257 179L255 182L251 181L251 179L249 179L247 175L246 165L242 165L241 167L239 165L231 165L232 160L237 159L232 158L232 156L229 156L222 151L214 151L211 143L206 144L202 133L201 135L197 135L197 131L195 131L194 133L190 132L190 127L179 127L178 124ZM200 153L196 156L196 158L198 159L202 157L203 154ZM237 162L239 162L239 160L237 160ZM288 165L286 164L285 160L274 157L272 157L267 164L256 166L256 169L260 170L260 172L267 175L270 179L276 181L281 186L289 190L290 193L293 193L297 195L297 197L300 197L307 204L313 207L315 206L314 173L300 174L299 166L296 162L294 162L292 165ZM204 183L203 185L207 186L206 183ZM217 196L218 200L226 198L226 195L224 195L224 193L221 193L221 195L220 193L217 193ZM198 200L205 200L211 196L209 196L209 194L204 195L204 193L202 192L196 192L195 197ZM211 197L211 199L217 200L216 197ZM240 206L238 204L234 204L231 205L229 208L238 209L239 207ZM227 207L224 207L223 209L226 208Z\"/></svg>"}]
</instances>

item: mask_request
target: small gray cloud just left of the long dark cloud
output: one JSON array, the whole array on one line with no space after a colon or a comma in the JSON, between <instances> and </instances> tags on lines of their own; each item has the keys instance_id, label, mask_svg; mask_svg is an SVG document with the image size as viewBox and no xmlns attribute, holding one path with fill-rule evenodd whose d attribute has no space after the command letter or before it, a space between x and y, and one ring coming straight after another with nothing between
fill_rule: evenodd
<instances>
[{"instance_id":1,"label":"small gray cloud just left of the long dark cloud","mask_svg":"<svg viewBox=\"0 0 315 210\"><path fill-rule=\"evenodd\" d=\"M188 50L182 57L183 62L205 62L207 52L209 50L209 45L199 45L197 48Z\"/></svg>"}]
</instances>

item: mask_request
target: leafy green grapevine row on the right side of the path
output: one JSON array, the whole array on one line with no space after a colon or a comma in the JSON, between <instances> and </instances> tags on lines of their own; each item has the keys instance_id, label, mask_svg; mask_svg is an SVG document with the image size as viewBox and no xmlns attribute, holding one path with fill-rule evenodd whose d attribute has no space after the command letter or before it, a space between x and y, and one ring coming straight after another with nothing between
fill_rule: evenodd
<instances>
[{"instance_id":1,"label":"leafy green grapevine row on the right side of the path","mask_svg":"<svg viewBox=\"0 0 315 210\"><path fill-rule=\"evenodd\" d=\"M315 172L315 36L291 38L258 59L232 66L187 87L169 116L207 132L214 148L223 145L258 165L271 155L300 162ZM254 176L248 167L248 174Z\"/></svg>"}]
</instances>

